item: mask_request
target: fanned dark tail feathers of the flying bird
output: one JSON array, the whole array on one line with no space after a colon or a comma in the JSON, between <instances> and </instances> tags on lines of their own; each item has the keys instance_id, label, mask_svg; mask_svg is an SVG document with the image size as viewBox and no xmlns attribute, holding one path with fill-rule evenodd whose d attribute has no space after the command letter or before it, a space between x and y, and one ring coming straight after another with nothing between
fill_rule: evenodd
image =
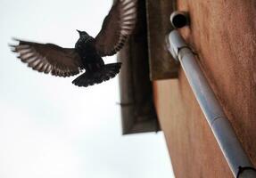
<instances>
[{"instance_id":1,"label":"fanned dark tail feathers of the flying bird","mask_svg":"<svg viewBox=\"0 0 256 178\"><path fill-rule=\"evenodd\" d=\"M103 66L102 69L99 69L95 72L86 71L84 74L77 77L73 80L74 85L78 86L89 86L100 84L103 81L107 81L112 77L115 77L120 72L121 63L111 63Z\"/></svg>"}]
</instances>

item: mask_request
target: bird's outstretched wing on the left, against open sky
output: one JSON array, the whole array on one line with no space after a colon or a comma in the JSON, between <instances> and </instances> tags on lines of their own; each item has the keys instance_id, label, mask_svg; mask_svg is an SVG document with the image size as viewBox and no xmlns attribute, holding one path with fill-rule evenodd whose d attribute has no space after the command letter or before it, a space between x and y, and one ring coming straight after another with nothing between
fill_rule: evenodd
<instances>
[{"instance_id":1,"label":"bird's outstretched wing on the left, against open sky","mask_svg":"<svg viewBox=\"0 0 256 178\"><path fill-rule=\"evenodd\" d=\"M59 77L70 77L80 72L82 62L72 48L15 40L19 44L10 45L12 52L19 53L17 58L28 63L29 68Z\"/></svg>"}]
</instances>

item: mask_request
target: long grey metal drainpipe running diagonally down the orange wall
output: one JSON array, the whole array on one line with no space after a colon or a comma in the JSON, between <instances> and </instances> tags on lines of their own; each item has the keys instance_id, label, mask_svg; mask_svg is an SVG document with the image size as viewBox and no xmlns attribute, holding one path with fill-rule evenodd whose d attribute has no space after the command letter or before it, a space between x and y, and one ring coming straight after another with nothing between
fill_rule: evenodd
<instances>
[{"instance_id":1,"label":"long grey metal drainpipe running diagonally down the orange wall","mask_svg":"<svg viewBox=\"0 0 256 178\"><path fill-rule=\"evenodd\" d=\"M177 30L169 33L169 52L180 62L196 100L211 127L220 150L227 160L234 177L255 178L256 170L252 166L227 116L217 101L206 77L195 61L194 53L185 43Z\"/></svg>"}]
</instances>

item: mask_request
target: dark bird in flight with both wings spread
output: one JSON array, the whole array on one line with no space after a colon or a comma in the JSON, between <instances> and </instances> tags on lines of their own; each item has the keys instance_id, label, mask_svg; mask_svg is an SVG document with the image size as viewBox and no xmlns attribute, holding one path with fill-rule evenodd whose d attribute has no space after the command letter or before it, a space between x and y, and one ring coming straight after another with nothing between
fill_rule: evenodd
<instances>
[{"instance_id":1,"label":"dark bird in flight with both wings spread","mask_svg":"<svg viewBox=\"0 0 256 178\"><path fill-rule=\"evenodd\" d=\"M115 0L103 20L97 36L89 36L77 29L79 38L74 48L56 44L40 44L13 38L18 44L9 44L17 58L29 68L56 77L71 77L78 86L100 84L120 72L121 63L105 64L103 57L118 53L128 41L136 26L137 0Z\"/></svg>"}]
</instances>

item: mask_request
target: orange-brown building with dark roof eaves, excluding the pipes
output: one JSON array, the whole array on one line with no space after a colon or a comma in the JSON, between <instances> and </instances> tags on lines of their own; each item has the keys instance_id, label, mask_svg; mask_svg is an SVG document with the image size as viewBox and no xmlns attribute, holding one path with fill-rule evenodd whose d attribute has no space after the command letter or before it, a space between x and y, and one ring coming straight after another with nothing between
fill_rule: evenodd
<instances>
[{"instance_id":1,"label":"orange-brown building with dark roof eaves, excluding the pipes","mask_svg":"<svg viewBox=\"0 0 256 178\"><path fill-rule=\"evenodd\" d=\"M197 53L197 63L256 166L255 1L146 0L139 6L135 35L120 53L122 61L131 62L120 80L124 134L161 129L178 178L234 177L184 70L166 49L169 15L177 9L189 13L190 25L179 32Z\"/></svg>"}]
</instances>

